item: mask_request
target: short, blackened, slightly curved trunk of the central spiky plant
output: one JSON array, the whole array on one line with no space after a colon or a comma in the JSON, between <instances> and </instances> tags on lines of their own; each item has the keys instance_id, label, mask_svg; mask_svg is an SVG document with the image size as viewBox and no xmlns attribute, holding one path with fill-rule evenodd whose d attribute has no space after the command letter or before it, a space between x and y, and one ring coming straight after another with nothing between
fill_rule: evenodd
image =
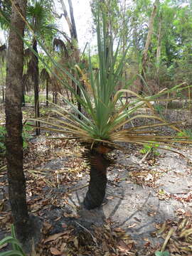
<instances>
[{"instance_id":1,"label":"short, blackened, slightly curved trunk of the central spiky plant","mask_svg":"<svg viewBox=\"0 0 192 256\"><path fill-rule=\"evenodd\" d=\"M105 198L107 167L110 166L110 160L106 158L105 154L95 150L87 151L85 159L90 164L90 183L84 199L84 206L87 210L91 210L101 206Z\"/></svg>"}]
</instances>

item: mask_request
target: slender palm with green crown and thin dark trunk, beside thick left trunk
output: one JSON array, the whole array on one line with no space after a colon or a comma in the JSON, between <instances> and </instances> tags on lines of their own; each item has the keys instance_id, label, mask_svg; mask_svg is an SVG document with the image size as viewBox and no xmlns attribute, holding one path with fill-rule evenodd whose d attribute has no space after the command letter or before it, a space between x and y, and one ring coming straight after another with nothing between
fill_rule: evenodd
<instances>
[{"instance_id":1,"label":"slender palm with green crown and thin dark trunk, beside thick left trunk","mask_svg":"<svg viewBox=\"0 0 192 256\"><path fill-rule=\"evenodd\" d=\"M38 90L39 90L39 68L38 68L38 40L37 38L46 37L48 41L53 37L53 33L56 31L54 24L50 23L53 20L50 9L48 6L36 1L34 6L28 6L27 18L29 26L32 31L32 48L31 59L28 63L28 75L31 76L34 87L34 102L35 102L35 117L40 117L39 102L38 102ZM36 123L36 135L40 134L39 122Z\"/></svg>"}]
</instances>

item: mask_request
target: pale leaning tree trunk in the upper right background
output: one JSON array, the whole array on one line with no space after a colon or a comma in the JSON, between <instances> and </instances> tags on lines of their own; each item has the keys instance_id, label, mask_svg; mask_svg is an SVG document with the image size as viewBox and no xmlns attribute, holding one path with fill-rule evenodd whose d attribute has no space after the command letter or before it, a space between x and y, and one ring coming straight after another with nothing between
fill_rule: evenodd
<instances>
[{"instance_id":1,"label":"pale leaning tree trunk in the upper right background","mask_svg":"<svg viewBox=\"0 0 192 256\"><path fill-rule=\"evenodd\" d=\"M149 51L149 46L151 44L151 36L154 31L154 18L156 16L157 12L157 6L159 6L159 0L156 0L154 3L154 9L151 13L151 17L149 19L149 31L146 36L146 43L144 46L144 52L142 56L142 78L140 79L140 82L142 84L141 89L139 91L139 94L142 95L144 92L144 80L146 80L146 63L147 63L147 57L148 57L148 51Z\"/></svg>"}]
</instances>

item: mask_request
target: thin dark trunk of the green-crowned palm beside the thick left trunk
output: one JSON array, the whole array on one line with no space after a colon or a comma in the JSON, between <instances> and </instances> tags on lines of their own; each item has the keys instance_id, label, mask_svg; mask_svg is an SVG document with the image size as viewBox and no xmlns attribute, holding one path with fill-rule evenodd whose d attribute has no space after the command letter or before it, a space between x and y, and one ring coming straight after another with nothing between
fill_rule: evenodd
<instances>
[{"instance_id":1,"label":"thin dark trunk of the green-crowned palm beside the thick left trunk","mask_svg":"<svg viewBox=\"0 0 192 256\"><path fill-rule=\"evenodd\" d=\"M38 53L37 49L37 41L36 39L33 39L33 50ZM36 55L33 55L33 84L34 84L34 100L35 100L35 117L38 118L40 117L40 112L39 112L39 101L38 101L38 78L39 78L39 70L38 70L38 57ZM36 135L40 135L40 122L36 122Z\"/></svg>"}]
</instances>

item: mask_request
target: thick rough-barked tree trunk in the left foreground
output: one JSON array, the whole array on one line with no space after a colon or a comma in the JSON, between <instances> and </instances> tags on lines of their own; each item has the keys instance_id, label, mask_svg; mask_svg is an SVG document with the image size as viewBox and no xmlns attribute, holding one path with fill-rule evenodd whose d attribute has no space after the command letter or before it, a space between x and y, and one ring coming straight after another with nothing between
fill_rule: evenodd
<instances>
[{"instance_id":1,"label":"thick rough-barked tree trunk in the left foreground","mask_svg":"<svg viewBox=\"0 0 192 256\"><path fill-rule=\"evenodd\" d=\"M15 9L17 6L17 9ZM21 97L23 93L23 41L26 16L26 0L12 3L9 49L6 73L6 161L9 181L9 201L14 217L16 235L23 241L30 233L29 215L26 205L26 181L23 174L23 139ZM16 33L17 31L17 33ZM21 36L19 36L21 35Z\"/></svg>"}]
</instances>

